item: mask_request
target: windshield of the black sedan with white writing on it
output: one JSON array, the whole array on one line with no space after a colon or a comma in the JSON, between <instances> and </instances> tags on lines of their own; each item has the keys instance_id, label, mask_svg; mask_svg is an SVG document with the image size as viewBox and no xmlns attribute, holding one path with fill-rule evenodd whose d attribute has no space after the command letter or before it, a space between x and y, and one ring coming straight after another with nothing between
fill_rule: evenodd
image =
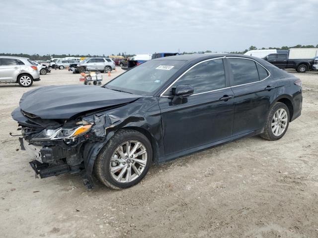
<instances>
[{"instance_id":1,"label":"windshield of the black sedan with white writing on it","mask_svg":"<svg viewBox=\"0 0 318 238\"><path fill-rule=\"evenodd\" d=\"M104 87L152 96L185 62L185 60L150 60L119 75Z\"/></svg>"}]
</instances>

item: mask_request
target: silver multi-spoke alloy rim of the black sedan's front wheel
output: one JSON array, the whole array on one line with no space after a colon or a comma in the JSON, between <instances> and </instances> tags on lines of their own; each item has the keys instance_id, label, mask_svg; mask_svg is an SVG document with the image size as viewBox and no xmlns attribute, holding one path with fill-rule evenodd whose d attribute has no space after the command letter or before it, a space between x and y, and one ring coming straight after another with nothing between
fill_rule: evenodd
<instances>
[{"instance_id":1,"label":"silver multi-spoke alloy rim of the black sedan's front wheel","mask_svg":"<svg viewBox=\"0 0 318 238\"><path fill-rule=\"evenodd\" d=\"M128 140L117 147L110 160L110 174L117 182L137 179L147 165L147 150L143 143Z\"/></svg>"}]
</instances>

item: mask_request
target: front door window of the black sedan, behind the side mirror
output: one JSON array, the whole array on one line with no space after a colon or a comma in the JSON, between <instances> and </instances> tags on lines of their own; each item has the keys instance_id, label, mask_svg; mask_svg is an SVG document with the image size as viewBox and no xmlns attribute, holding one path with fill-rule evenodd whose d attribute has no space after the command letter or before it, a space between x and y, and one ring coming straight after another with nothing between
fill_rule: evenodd
<instances>
[{"instance_id":1,"label":"front door window of the black sedan, behind the side mirror","mask_svg":"<svg viewBox=\"0 0 318 238\"><path fill-rule=\"evenodd\" d=\"M172 88L178 85L191 85L193 94L225 88L223 60L209 60L198 64L176 81Z\"/></svg>"}]
</instances>

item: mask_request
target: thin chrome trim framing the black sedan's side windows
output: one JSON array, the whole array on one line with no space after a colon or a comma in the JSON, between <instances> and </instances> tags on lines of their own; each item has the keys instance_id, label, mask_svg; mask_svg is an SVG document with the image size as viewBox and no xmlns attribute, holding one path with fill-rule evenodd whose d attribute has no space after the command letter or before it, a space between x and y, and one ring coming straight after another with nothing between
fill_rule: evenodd
<instances>
[{"instance_id":1,"label":"thin chrome trim framing the black sedan's side windows","mask_svg":"<svg viewBox=\"0 0 318 238\"><path fill-rule=\"evenodd\" d=\"M172 97L172 95L171 96L168 96L168 95L163 95L176 81L178 81L184 74L186 74L190 69L192 69L193 67L195 67L195 66L197 66L198 64L200 64L200 63L204 63L204 62L206 62L206 61L210 61L210 60L219 60L219 59L224 59L224 58L227 58L227 59L230 59L230 58L236 58L236 59L244 59L244 60L252 60L252 61L254 61L255 63L258 63L259 65L261 65L263 68L265 68L262 64L260 64L259 62L257 62L256 60L253 60L253 59L249 59L249 58L245 58L245 57L235 57L235 56L233 56L233 57L226 57L226 56L224 56L224 57L218 57L218 58L213 58L213 59L208 59L208 60L203 60L203 61L200 61L200 62L198 62L198 63L196 63L196 64L194 64L194 65L192 65L190 68L188 68L185 72L183 72L179 77L177 77L177 79L176 80L174 80L161 94L160 94L160 96L159 97ZM238 87L238 86L242 86L242 85L248 85L248 84L252 84L252 83L259 83L259 82L262 82L262 81L264 81L264 80L266 80L267 78L269 78L270 77L270 71L267 69L267 68L265 68L265 70L267 71L267 73L268 73L268 76L266 77L266 78L264 78L264 79L262 79L262 80L259 80L259 81L255 81L255 82L251 82L251 83L244 83L244 84L239 84L239 85L235 85L235 86L230 86L230 87L226 87L226 88L220 88L220 89L216 89L216 90L211 90L211 91L207 91L207 92L202 92L202 93L196 93L196 94L192 94L192 95L190 95L189 97L191 97L191 96L195 96L195 95L199 95L199 94L204 94L204 93L210 93L210 92L214 92L214 91L219 91L219 90L223 90L223 89L228 89L228 88L232 88L232 87ZM225 72L225 71L224 71ZM258 72L258 71L257 71Z\"/></svg>"}]
</instances>

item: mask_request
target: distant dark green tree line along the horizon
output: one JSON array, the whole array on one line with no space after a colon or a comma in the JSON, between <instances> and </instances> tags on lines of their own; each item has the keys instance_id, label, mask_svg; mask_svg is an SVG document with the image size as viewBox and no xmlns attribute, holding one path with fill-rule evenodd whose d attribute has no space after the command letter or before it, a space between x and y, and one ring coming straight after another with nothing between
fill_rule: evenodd
<instances>
[{"instance_id":1,"label":"distant dark green tree line along the horizon","mask_svg":"<svg viewBox=\"0 0 318 238\"><path fill-rule=\"evenodd\" d=\"M289 50L290 48L315 48L314 45L307 45L307 46L302 46L302 45L296 45L296 46L282 46L282 47L268 47L268 48L260 48L257 49L257 47L255 46L250 46L248 49L245 49L244 51L233 51L233 52L229 52L231 54L244 54L247 51L251 51L251 50ZM316 45L316 48L318 48L318 45ZM198 51L198 52L183 52L182 54L203 54L203 53L212 53L212 51L208 50L208 51ZM16 56L16 57L25 57L25 58L29 58L30 60L50 60L51 58L65 58L65 57L85 57L85 58L90 58L90 57L106 57L105 55L43 55L40 56L38 54L33 54L33 55L28 55L28 54L8 54L8 53L1 53L1 56ZM114 54L111 54L111 56L114 56ZM135 56L135 54L124 54L124 53L118 53L117 56L123 56L125 58L129 58L129 57L133 57Z\"/></svg>"}]
</instances>

